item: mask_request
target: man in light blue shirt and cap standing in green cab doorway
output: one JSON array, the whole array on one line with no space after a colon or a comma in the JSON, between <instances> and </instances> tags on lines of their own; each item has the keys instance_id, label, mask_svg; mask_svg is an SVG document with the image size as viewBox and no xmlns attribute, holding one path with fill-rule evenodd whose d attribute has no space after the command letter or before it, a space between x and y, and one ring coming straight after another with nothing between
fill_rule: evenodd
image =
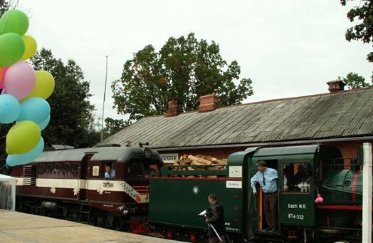
<instances>
[{"instance_id":1,"label":"man in light blue shirt and cap standing in green cab doorway","mask_svg":"<svg viewBox=\"0 0 373 243\"><path fill-rule=\"evenodd\" d=\"M258 161L258 172L251 178L251 187L253 188L253 195L257 195L256 183L263 191L263 210L266 216L268 228L264 229L266 232L277 231L277 170L267 167L266 161Z\"/></svg>"}]
</instances>

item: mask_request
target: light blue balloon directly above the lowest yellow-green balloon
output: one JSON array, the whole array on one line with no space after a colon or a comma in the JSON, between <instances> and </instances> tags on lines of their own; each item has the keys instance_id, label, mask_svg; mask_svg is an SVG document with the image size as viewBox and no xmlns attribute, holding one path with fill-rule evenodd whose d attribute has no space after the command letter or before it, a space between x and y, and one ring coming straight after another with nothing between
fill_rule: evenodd
<instances>
[{"instance_id":1,"label":"light blue balloon directly above the lowest yellow-green balloon","mask_svg":"<svg viewBox=\"0 0 373 243\"><path fill-rule=\"evenodd\" d=\"M51 113L48 102L42 98L28 98L21 103L21 114L17 121L32 120L34 123L43 123Z\"/></svg>"}]
</instances>

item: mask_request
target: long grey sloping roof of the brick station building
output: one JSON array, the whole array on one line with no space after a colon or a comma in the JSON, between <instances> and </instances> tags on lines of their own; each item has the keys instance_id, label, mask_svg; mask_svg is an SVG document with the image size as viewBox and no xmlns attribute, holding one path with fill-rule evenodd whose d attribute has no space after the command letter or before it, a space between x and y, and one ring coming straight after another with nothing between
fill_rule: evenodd
<instances>
[{"instance_id":1,"label":"long grey sloping roof of the brick station building","mask_svg":"<svg viewBox=\"0 0 373 243\"><path fill-rule=\"evenodd\" d=\"M373 88L138 120L103 143L177 148L373 135Z\"/></svg>"}]
</instances>

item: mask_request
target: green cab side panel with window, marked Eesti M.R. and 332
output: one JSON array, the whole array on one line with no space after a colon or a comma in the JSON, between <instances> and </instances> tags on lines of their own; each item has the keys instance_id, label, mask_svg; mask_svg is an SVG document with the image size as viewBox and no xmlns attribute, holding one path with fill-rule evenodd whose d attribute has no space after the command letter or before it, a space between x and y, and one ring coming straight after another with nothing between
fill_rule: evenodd
<instances>
[{"instance_id":1,"label":"green cab side panel with window, marked Eesti M.R. and 332","mask_svg":"<svg viewBox=\"0 0 373 243\"><path fill-rule=\"evenodd\" d=\"M280 225L313 227L317 194L314 156L318 147L293 148L293 154L283 156L278 162L278 222Z\"/></svg>"}]
</instances>

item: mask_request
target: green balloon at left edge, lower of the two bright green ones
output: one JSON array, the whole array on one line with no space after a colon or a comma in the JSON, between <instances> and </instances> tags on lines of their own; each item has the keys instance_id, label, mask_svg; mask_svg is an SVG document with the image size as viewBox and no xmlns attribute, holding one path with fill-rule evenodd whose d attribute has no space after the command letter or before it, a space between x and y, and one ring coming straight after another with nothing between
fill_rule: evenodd
<instances>
[{"instance_id":1,"label":"green balloon at left edge, lower of the two bright green ones","mask_svg":"<svg viewBox=\"0 0 373 243\"><path fill-rule=\"evenodd\" d=\"M25 52L23 38L16 33L4 33L0 36L0 67L11 66L21 60Z\"/></svg>"}]
</instances>

